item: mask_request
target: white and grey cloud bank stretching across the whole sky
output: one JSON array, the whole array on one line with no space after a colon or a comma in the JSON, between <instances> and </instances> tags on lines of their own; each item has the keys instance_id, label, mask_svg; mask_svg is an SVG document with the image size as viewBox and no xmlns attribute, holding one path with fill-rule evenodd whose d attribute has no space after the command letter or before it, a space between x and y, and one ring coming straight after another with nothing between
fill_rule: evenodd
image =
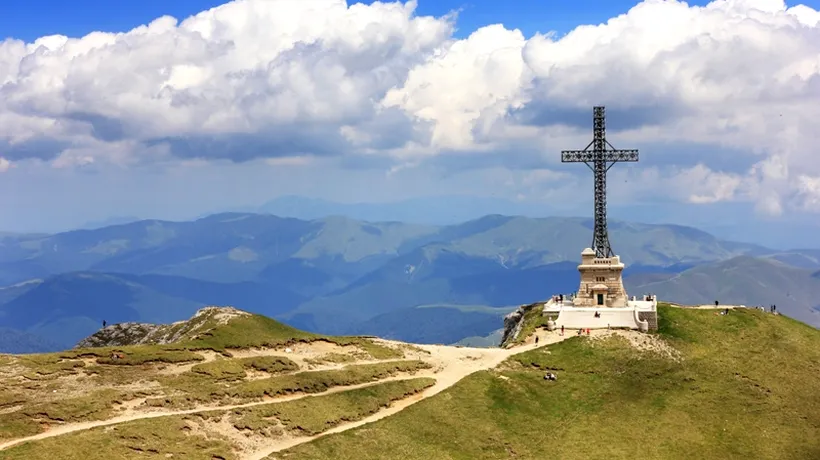
<instances>
[{"instance_id":1,"label":"white and grey cloud bank stretching across the whole sky","mask_svg":"<svg viewBox=\"0 0 820 460\"><path fill-rule=\"evenodd\" d=\"M812 8L647 0L565 36L495 24L455 39L454 15L415 7L240 0L123 33L0 42L0 155L66 168L343 157L394 174L427 162L445 177L507 168L520 193L541 193L569 182L514 171L587 174L558 152L583 148L591 106L606 105L612 143L647 159L630 167L640 180L613 170L625 194L818 208Z\"/></svg>"}]
</instances>

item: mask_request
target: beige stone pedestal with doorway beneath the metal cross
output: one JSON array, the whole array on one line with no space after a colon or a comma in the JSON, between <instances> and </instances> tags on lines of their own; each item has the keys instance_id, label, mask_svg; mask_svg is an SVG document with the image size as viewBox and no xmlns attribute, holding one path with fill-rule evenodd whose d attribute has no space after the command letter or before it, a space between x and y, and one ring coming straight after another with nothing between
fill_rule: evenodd
<instances>
[{"instance_id":1,"label":"beige stone pedestal with doorway beneath the metal cross","mask_svg":"<svg viewBox=\"0 0 820 460\"><path fill-rule=\"evenodd\" d=\"M618 256L595 257L590 248L581 253L581 286L575 296L576 307L626 307L623 279L624 264Z\"/></svg>"}]
</instances>

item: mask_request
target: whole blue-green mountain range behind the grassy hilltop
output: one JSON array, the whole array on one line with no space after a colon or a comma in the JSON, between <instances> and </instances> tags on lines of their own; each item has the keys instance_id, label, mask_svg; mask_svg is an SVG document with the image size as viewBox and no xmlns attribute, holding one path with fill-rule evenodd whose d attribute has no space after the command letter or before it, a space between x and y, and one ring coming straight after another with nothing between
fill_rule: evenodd
<instances>
[{"instance_id":1,"label":"whole blue-green mountain range behind the grassy hilltop","mask_svg":"<svg viewBox=\"0 0 820 460\"><path fill-rule=\"evenodd\" d=\"M631 294L777 304L820 326L820 250L680 225L609 229ZM226 304L313 332L454 343L491 335L519 304L577 289L591 233L591 219L567 217L424 225L222 213L0 234L0 327L21 338L16 350L46 351L73 346L104 320L172 322Z\"/></svg>"}]
</instances>

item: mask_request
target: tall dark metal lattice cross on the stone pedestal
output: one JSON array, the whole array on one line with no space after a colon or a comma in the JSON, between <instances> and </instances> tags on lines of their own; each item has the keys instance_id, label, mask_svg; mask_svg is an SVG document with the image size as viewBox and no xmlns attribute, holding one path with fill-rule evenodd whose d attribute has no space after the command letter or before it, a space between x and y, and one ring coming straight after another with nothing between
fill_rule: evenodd
<instances>
[{"instance_id":1,"label":"tall dark metal lattice cross on the stone pedestal","mask_svg":"<svg viewBox=\"0 0 820 460\"><path fill-rule=\"evenodd\" d=\"M595 230L592 234L592 249L595 250L595 257L612 257L614 253L609 245L606 228L606 173L615 163L638 161L638 151L617 150L606 140L604 107L593 107L592 122L592 142L584 150L562 150L561 162L585 163L595 173Z\"/></svg>"}]
</instances>

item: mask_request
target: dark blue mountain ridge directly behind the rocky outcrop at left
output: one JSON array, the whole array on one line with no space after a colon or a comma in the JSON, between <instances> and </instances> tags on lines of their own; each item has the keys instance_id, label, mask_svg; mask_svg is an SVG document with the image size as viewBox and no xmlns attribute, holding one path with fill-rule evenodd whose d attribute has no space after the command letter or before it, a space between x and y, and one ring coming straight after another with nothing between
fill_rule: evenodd
<instances>
[{"instance_id":1,"label":"dark blue mountain ridge directly behind the rocky outcrop at left","mask_svg":"<svg viewBox=\"0 0 820 460\"><path fill-rule=\"evenodd\" d=\"M187 319L206 305L230 305L275 316L304 300L274 283L71 272L49 277L0 305L0 326L70 348L96 332L102 321L169 323Z\"/></svg>"}]
</instances>

